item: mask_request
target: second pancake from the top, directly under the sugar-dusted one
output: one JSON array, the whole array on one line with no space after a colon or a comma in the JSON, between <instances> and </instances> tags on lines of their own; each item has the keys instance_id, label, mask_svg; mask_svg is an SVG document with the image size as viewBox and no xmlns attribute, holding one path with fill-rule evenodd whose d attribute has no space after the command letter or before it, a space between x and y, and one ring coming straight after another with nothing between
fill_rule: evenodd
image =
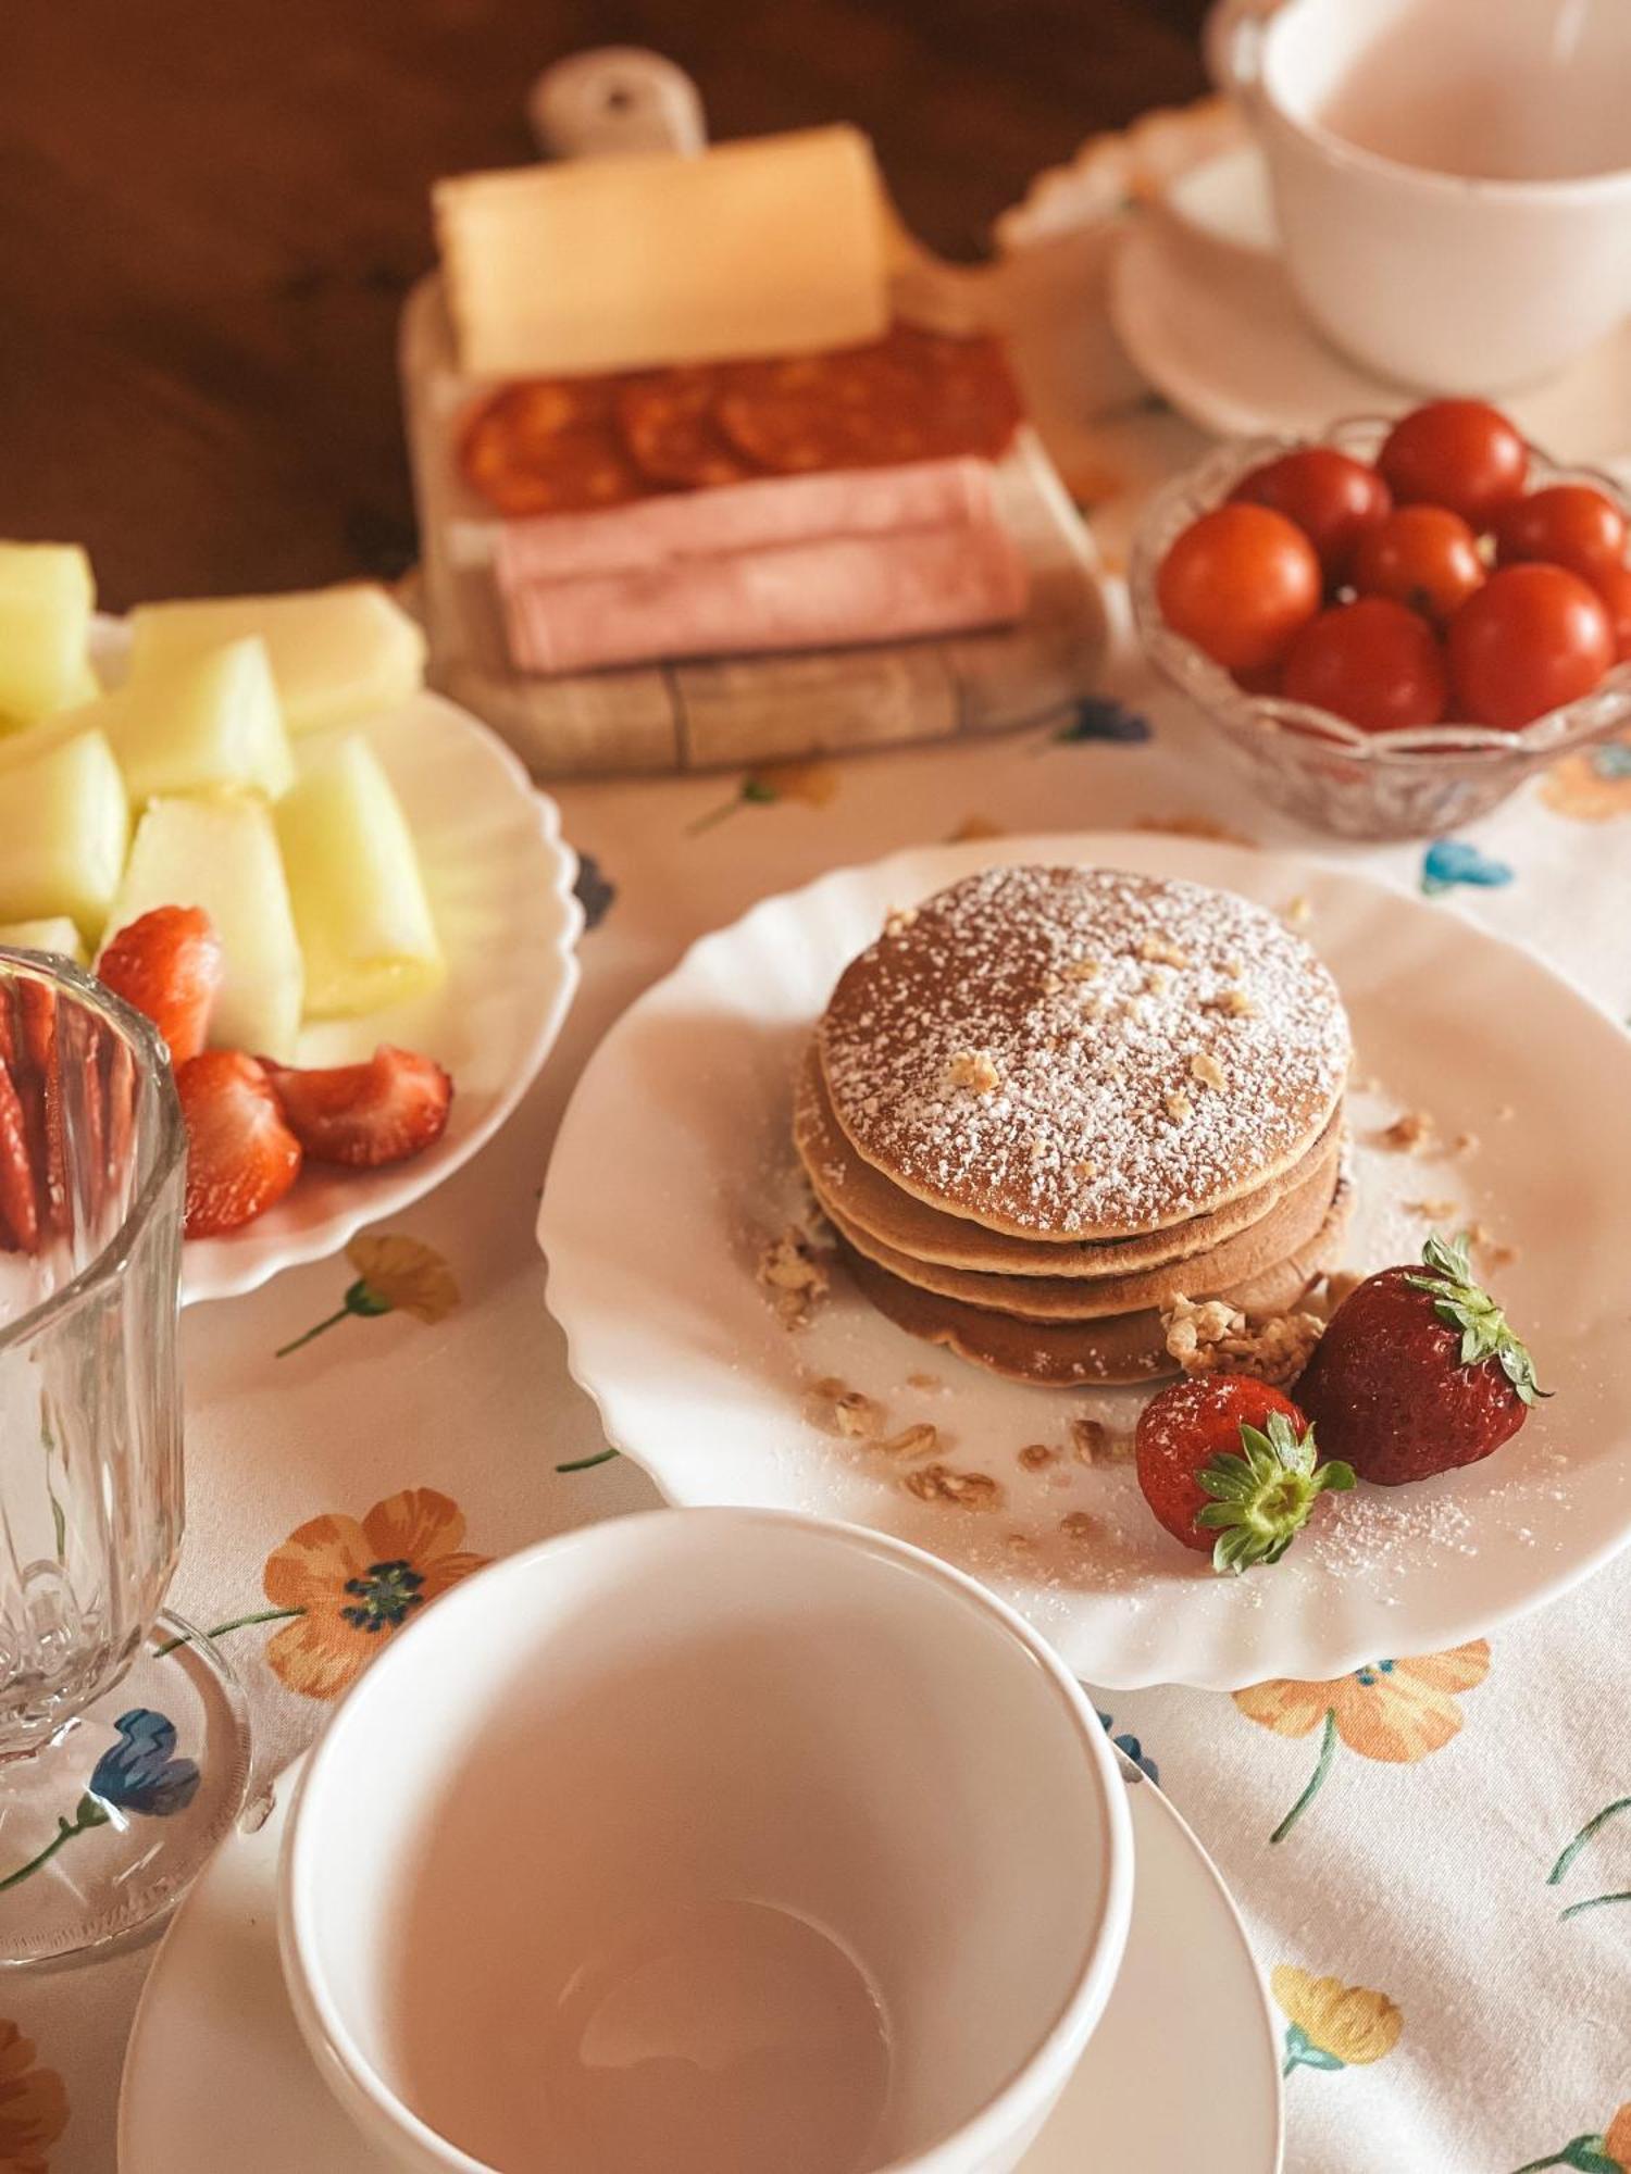
<instances>
[{"instance_id":1,"label":"second pancake from the top, directly under the sugar-dusted one","mask_svg":"<svg viewBox=\"0 0 1631 2174\"><path fill-rule=\"evenodd\" d=\"M1166 1230L1107 1241L1009 1237L966 1215L946 1215L916 1194L900 1191L857 1154L826 1100L813 1044L794 1087L794 1146L811 1189L829 1213L837 1211L844 1226L855 1226L861 1239L874 1239L913 1261L996 1276L1124 1276L1142 1267L1187 1261L1261 1222L1274 1202L1316 1167L1340 1133L1342 1107L1307 1154L1279 1178L1209 1215L1192 1215L1190 1222Z\"/></svg>"}]
</instances>

